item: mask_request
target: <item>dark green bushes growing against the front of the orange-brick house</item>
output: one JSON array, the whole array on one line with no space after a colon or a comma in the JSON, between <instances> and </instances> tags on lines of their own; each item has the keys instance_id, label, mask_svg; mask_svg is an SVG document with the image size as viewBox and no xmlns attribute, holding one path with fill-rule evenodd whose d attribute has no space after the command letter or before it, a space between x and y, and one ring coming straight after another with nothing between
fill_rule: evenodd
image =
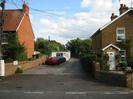
<instances>
[{"instance_id":1,"label":"dark green bushes growing against the front of the orange-brick house","mask_svg":"<svg viewBox=\"0 0 133 99\"><path fill-rule=\"evenodd\" d=\"M27 54L25 52L24 45L18 42L16 33L10 32L6 36L8 44L3 46L3 59L6 62L11 62L13 60L25 60L27 59Z\"/></svg>"}]
</instances>

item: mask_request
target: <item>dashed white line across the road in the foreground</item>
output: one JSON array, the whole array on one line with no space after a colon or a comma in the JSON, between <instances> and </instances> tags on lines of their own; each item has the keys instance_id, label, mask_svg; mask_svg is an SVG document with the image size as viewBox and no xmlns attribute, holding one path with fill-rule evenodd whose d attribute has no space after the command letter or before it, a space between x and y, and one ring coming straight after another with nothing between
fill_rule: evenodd
<instances>
[{"instance_id":1,"label":"dashed white line across the road in the foreground","mask_svg":"<svg viewBox=\"0 0 133 99\"><path fill-rule=\"evenodd\" d=\"M32 91L32 90L0 90L0 93L24 93L24 94L69 94L69 95L86 95L86 94L105 94L105 95L127 95L133 94L133 91Z\"/></svg>"}]
</instances>

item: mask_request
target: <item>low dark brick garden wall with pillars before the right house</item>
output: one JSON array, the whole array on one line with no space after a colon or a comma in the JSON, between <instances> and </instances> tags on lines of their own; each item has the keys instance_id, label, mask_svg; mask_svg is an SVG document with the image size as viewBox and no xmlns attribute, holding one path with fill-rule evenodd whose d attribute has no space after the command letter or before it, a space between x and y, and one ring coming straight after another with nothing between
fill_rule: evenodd
<instances>
[{"instance_id":1,"label":"low dark brick garden wall with pillars before the right house","mask_svg":"<svg viewBox=\"0 0 133 99\"><path fill-rule=\"evenodd\" d=\"M93 75L98 81L114 86L133 89L133 72L101 71L100 64L97 62L94 62L93 67Z\"/></svg>"}]
</instances>

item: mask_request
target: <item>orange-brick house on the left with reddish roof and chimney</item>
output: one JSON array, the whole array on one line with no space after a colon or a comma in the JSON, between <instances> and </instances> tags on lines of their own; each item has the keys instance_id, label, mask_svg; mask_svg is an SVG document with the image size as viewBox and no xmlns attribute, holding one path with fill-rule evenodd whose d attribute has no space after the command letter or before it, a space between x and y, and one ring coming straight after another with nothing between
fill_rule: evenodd
<instances>
[{"instance_id":1,"label":"orange-brick house on the left with reddish roof and chimney","mask_svg":"<svg viewBox=\"0 0 133 99\"><path fill-rule=\"evenodd\" d=\"M32 57L34 54L34 33L27 4L23 4L23 9L4 11L3 31L4 34L15 32L19 43L25 47L27 57Z\"/></svg>"}]
</instances>

